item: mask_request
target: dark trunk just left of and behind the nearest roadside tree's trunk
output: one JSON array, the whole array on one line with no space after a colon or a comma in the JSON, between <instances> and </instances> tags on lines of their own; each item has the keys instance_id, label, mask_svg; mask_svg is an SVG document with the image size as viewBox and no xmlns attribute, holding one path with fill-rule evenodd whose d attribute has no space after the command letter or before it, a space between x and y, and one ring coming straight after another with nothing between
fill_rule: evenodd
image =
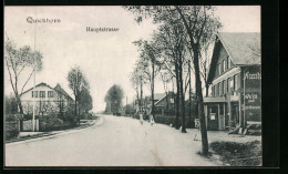
<instances>
[{"instance_id":1,"label":"dark trunk just left of and behind the nearest roadside tree's trunk","mask_svg":"<svg viewBox=\"0 0 288 174\"><path fill-rule=\"evenodd\" d=\"M183 89L183 61L182 58L179 58L179 94L181 94L181 114L182 114L182 133L186 132L186 125L185 125L185 95L184 95L184 89Z\"/></svg>"}]
</instances>

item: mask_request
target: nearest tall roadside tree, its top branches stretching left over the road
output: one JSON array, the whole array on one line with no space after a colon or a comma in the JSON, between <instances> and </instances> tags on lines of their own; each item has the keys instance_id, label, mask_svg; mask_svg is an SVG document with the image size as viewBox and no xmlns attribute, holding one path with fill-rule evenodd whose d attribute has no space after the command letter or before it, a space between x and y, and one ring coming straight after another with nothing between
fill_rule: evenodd
<instances>
[{"instance_id":1,"label":"nearest tall roadside tree, its top branches stretching left over the road","mask_svg":"<svg viewBox=\"0 0 288 174\"><path fill-rule=\"evenodd\" d=\"M171 25L183 25L189 39L188 43L193 52L193 64L195 71L195 85L197 94L198 111L200 117L200 133L202 133L202 153L208 155L208 137L205 123L202 80L199 74L199 53L202 43L205 38L209 38L222 25L219 20L214 16L215 7L210 6L191 6L191 7L124 7L125 9L135 13L136 21L141 22L143 18L153 18L155 23L168 23ZM181 23L179 23L181 21Z\"/></svg>"}]
</instances>

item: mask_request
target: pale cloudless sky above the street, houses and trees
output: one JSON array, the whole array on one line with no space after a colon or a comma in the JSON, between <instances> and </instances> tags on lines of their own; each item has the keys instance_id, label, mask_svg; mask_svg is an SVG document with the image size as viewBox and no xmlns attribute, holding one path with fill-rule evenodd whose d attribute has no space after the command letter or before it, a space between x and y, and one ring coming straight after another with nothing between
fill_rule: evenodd
<instances>
[{"instance_id":1,"label":"pale cloudless sky above the street, houses and trees","mask_svg":"<svg viewBox=\"0 0 288 174\"><path fill-rule=\"evenodd\" d=\"M260 7L217 7L216 16L223 23L222 32L260 32ZM60 19L55 23L29 23L27 19ZM119 28L115 32L88 32L86 28ZM43 55L43 70L35 74L35 83L56 83L73 96L66 80L71 68L79 65L85 74L93 99L93 111L105 109L104 96L113 84L124 91L128 103L135 95L130 73L140 55L132 43L151 39L157 25L151 20L141 24L122 7L4 7L4 37L17 48L30 45ZM24 72L20 84L28 76ZM155 92L164 92L161 82ZM25 90L33 86L29 81ZM4 93L12 92L4 66ZM147 91L144 91L148 94ZM125 103L125 100L123 101Z\"/></svg>"}]
</instances>

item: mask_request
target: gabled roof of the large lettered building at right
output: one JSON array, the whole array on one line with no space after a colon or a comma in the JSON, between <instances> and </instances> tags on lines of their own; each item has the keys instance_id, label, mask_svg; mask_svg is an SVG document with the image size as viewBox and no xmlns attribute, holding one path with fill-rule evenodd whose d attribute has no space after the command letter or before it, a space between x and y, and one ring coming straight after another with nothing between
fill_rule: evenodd
<instances>
[{"instance_id":1,"label":"gabled roof of the large lettered building at right","mask_svg":"<svg viewBox=\"0 0 288 174\"><path fill-rule=\"evenodd\" d=\"M260 48L259 33L257 32L218 33L213 50L210 69L208 73L208 83L212 83L214 79L222 47L227 51L229 59L236 66L261 64L261 48Z\"/></svg>"}]
</instances>

